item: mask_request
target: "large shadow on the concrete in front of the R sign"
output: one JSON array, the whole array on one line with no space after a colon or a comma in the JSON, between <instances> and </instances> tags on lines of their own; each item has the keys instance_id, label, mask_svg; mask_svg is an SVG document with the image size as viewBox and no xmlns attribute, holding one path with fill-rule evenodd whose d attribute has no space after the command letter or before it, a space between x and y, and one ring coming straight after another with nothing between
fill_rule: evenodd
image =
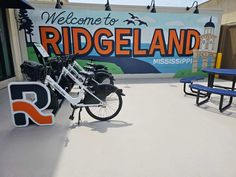
<instances>
[{"instance_id":1,"label":"large shadow on the concrete in front of the R sign","mask_svg":"<svg viewBox=\"0 0 236 177\"><path fill-rule=\"evenodd\" d=\"M52 177L67 136L68 127L14 128L0 139L2 177ZM13 172L13 171L14 172Z\"/></svg>"}]
</instances>

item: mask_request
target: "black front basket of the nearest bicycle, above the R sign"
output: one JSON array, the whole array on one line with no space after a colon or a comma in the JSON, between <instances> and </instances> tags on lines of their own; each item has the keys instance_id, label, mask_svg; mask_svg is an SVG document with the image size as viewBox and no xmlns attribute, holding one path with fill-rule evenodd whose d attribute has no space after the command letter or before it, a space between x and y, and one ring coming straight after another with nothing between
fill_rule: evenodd
<instances>
[{"instance_id":1,"label":"black front basket of the nearest bicycle, above the R sign","mask_svg":"<svg viewBox=\"0 0 236 177\"><path fill-rule=\"evenodd\" d=\"M24 61L20 67L21 73L29 81L43 81L45 79L46 71L42 64L33 61Z\"/></svg>"}]
</instances>

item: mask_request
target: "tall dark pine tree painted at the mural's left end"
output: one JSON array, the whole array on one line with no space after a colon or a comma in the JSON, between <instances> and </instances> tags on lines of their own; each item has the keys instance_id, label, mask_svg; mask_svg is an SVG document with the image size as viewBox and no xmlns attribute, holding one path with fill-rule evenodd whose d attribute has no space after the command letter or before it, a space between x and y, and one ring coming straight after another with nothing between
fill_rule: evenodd
<instances>
[{"instance_id":1,"label":"tall dark pine tree painted at the mural's left end","mask_svg":"<svg viewBox=\"0 0 236 177\"><path fill-rule=\"evenodd\" d=\"M33 22L28 16L28 12L26 9L20 9L19 15L18 15L18 22L20 24L19 30L24 30L25 33L25 41L27 40L27 34L30 37L30 42L32 42L32 36L33 36Z\"/></svg>"}]
</instances>

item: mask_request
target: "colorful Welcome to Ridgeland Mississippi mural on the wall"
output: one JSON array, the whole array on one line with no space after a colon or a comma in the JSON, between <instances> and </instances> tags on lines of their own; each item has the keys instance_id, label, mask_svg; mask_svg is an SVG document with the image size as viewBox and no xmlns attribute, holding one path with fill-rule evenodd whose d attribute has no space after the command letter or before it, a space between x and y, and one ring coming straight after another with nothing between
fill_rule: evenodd
<instances>
[{"instance_id":1,"label":"colorful Welcome to Ridgeland Mississippi mural on the wall","mask_svg":"<svg viewBox=\"0 0 236 177\"><path fill-rule=\"evenodd\" d=\"M212 66L219 36L219 14L136 13L90 10L20 10L29 58L33 42L52 56L79 54L117 74L198 74Z\"/></svg>"}]
</instances>

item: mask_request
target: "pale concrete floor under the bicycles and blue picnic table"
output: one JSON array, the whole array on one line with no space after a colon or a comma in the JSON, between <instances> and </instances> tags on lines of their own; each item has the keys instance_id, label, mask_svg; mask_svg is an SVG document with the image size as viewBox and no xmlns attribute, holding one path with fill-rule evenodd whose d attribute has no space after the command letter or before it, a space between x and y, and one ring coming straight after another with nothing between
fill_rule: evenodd
<instances>
[{"instance_id":1,"label":"pale concrete floor under the bicycles and blue picnic table","mask_svg":"<svg viewBox=\"0 0 236 177\"><path fill-rule=\"evenodd\" d=\"M178 80L119 81L120 114L76 126L65 102L54 126L15 128L0 90L0 177L235 177L236 105L201 107ZM229 83L220 83L229 84Z\"/></svg>"}]
</instances>

